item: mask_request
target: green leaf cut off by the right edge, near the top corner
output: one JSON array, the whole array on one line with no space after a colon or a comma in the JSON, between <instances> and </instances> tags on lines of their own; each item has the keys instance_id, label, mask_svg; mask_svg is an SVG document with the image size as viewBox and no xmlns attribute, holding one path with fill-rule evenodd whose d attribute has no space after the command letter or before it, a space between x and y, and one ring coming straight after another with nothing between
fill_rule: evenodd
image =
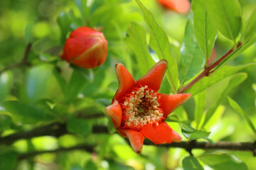
<instances>
[{"instance_id":1,"label":"green leaf cut off by the right edge, near the top corner","mask_svg":"<svg viewBox=\"0 0 256 170\"><path fill-rule=\"evenodd\" d=\"M256 8L252 11L250 18L246 22L245 33L242 35L242 42L247 42L256 38Z\"/></svg>"}]
</instances>

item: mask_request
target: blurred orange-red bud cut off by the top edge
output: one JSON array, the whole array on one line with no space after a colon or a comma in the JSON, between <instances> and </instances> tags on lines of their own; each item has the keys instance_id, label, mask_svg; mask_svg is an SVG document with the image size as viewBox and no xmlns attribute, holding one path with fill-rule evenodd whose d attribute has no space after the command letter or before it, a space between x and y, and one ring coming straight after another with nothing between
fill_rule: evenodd
<instances>
[{"instance_id":1,"label":"blurred orange-red bud cut off by the top edge","mask_svg":"<svg viewBox=\"0 0 256 170\"><path fill-rule=\"evenodd\" d=\"M188 0L158 0L165 8L174 10L178 13L188 13L190 4Z\"/></svg>"}]
</instances>

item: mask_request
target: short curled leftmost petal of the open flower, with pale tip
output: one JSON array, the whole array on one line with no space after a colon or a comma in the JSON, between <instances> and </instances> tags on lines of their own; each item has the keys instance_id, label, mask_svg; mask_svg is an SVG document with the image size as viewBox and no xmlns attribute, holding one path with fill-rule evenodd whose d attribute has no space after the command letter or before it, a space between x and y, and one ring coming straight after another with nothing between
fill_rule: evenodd
<instances>
[{"instance_id":1,"label":"short curled leftmost petal of the open flower, with pale tip","mask_svg":"<svg viewBox=\"0 0 256 170\"><path fill-rule=\"evenodd\" d=\"M119 105L118 101L114 100L112 105L105 108L105 113L112 118L114 127L117 128L120 126L122 121L122 108Z\"/></svg>"}]
</instances>

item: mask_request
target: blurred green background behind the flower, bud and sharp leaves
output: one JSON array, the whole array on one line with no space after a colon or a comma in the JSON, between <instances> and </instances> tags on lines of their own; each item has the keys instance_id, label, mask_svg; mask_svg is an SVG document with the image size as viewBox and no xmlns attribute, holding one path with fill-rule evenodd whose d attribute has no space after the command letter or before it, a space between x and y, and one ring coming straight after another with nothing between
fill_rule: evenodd
<instances>
[{"instance_id":1,"label":"blurred green background behind the flower, bud and sharp leaves","mask_svg":"<svg viewBox=\"0 0 256 170\"><path fill-rule=\"evenodd\" d=\"M247 20L255 8L253 0L240 0L242 16ZM188 13L181 14L164 8L158 1L143 0L142 3L154 14L157 23L169 36L171 51L177 62L180 60L181 40L183 39ZM181 161L188 156L185 149L144 146L142 154L135 154L129 143L117 133L91 134L86 128L90 125L109 125L104 115L105 106L110 104L118 87L114 64L122 62L135 79L142 75L134 52L126 42L126 32L131 21L141 23L146 28L139 6L129 0L3 0L0 1L0 70L23 59L28 43L32 44L28 63L1 72L0 101L18 101L21 105L10 106L14 113L0 106L0 135L4 137L14 132L31 130L41 125L58 121L70 121L69 132L60 137L43 136L31 140L18 140L12 145L1 145L0 162L9 164L11 169L182 169ZM102 67L80 70L60 60L65 38L79 26L100 27L108 41L107 61ZM147 35L149 40L149 35ZM225 54L233 42L218 33L215 42L215 60ZM155 55L151 50L151 55ZM239 57L228 63L241 65L256 62L256 46L252 45ZM73 76L73 69L78 72ZM256 67L252 65L240 72L247 79L230 93L256 122L255 93ZM82 77L82 79L81 79ZM7 85L6 85L7 82ZM228 80L210 86L206 91L206 109L218 101ZM161 92L170 93L166 79ZM47 116L31 115L26 106L33 106ZM50 108L50 110L49 110ZM176 113L181 120L193 125L195 101L191 98ZM37 114L37 113L35 113ZM100 115L90 120L81 120L77 115ZM85 123L86 125L80 125ZM77 124L76 127L74 124ZM80 125L80 126L79 126ZM170 123L178 133L178 123ZM110 126L110 125L109 125ZM110 131L113 129L109 127ZM215 142L255 141L245 120L223 99L213 118L206 125L210 140ZM74 135L75 134L75 135ZM183 137L183 140L186 140ZM21 159L18 155L26 152L54 150L59 147L73 147L79 144L95 145L96 152L83 149L38 154ZM200 157L203 150L195 149L193 154ZM222 152L222 151L209 151ZM247 164L248 169L256 169L252 152L230 152ZM9 153L9 154L6 154ZM202 163L202 162L201 162ZM0 163L3 164L3 163ZM202 163L203 164L203 163ZM1 166L0 166L1 167ZM208 166L204 166L210 169Z\"/></svg>"}]
</instances>

